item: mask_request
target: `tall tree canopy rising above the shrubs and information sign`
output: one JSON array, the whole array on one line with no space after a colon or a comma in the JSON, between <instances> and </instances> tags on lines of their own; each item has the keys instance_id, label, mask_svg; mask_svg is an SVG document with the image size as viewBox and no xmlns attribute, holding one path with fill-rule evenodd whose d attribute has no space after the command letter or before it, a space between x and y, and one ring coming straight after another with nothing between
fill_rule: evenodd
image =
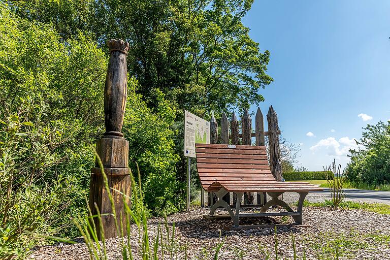
<instances>
[{"instance_id":1,"label":"tall tree canopy rising above the shrubs and information sign","mask_svg":"<svg viewBox=\"0 0 390 260\"><path fill-rule=\"evenodd\" d=\"M64 39L81 30L104 45L127 40L128 72L140 83L149 107L158 91L176 103L178 113L249 108L263 101L259 89L270 53L250 39L241 19L251 0L85 0L10 1L30 20L52 23ZM181 116L180 116L181 117Z\"/></svg>"}]
</instances>

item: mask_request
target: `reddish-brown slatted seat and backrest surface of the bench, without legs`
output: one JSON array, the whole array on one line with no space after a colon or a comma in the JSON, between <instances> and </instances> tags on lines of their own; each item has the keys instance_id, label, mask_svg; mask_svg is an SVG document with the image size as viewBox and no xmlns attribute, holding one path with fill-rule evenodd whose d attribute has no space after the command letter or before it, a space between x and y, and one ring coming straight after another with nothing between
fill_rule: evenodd
<instances>
[{"instance_id":1,"label":"reddish-brown slatted seat and backrest surface of the bench, without legs","mask_svg":"<svg viewBox=\"0 0 390 260\"><path fill-rule=\"evenodd\" d=\"M323 190L307 182L277 182L265 146L196 144L198 174L207 191L233 192Z\"/></svg>"}]
</instances>

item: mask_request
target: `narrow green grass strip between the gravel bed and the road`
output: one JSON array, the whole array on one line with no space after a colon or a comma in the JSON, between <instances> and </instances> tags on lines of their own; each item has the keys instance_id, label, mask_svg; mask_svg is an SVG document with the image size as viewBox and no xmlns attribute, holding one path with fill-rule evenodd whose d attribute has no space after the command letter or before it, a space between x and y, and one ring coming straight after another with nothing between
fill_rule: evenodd
<instances>
[{"instance_id":1,"label":"narrow green grass strip between the gravel bed and the road","mask_svg":"<svg viewBox=\"0 0 390 260\"><path fill-rule=\"evenodd\" d=\"M303 204L305 207L333 207L333 202L325 200L323 202L308 202L305 201ZM390 205L381 203L366 203L366 202L352 202L343 201L339 205L340 209L360 209L370 212L376 212L379 214L390 214Z\"/></svg>"}]
</instances>

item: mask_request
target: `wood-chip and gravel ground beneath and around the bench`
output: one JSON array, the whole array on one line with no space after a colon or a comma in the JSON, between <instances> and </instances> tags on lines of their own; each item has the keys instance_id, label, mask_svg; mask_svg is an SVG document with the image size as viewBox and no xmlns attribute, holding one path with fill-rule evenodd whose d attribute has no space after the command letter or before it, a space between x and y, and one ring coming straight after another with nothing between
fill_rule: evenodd
<instances>
[{"instance_id":1,"label":"wood-chip and gravel ground beneath and around the bench","mask_svg":"<svg viewBox=\"0 0 390 260\"><path fill-rule=\"evenodd\" d=\"M295 202L298 197L285 194L284 200ZM308 197L310 201L321 198ZM294 207L293 207L294 208ZM277 209L273 209L277 210ZM247 211L250 211L249 209ZM184 259L185 247L188 259L213 259L215 248L223 243L218 259L265 259L270 252L275 258L275 234L273 229L252 229L225 231L232 225L231 220L206 220L207 208L192 208L168 217L168 224L175 222L174 248L178 255L174 259ZM217 211L217 214L224 213ZM302 259L305 248L306 259L333 259L335 244L342 255L339 259L390 259L390 216L361 210L333 210L327 208L304 208L303 221L306 228L290 226L278 228L278 255L280 259L293 258L291 233L294 234L298 259ZM161 218L148 221L150 237L156 236ZM241 224L293 223L291 217L245 218ZM166 232L163 232L166 236ZM139 259L138 233L132 226L131 244L135 258ZM259 249L263 248L263 249ZM160 253L160 252L159 252ZM120 239L107 240L109 259L121 259ZM83 243L56 244L36 248L32 259L89 259ZM165 259L167 252L165 253Z\"/></svg>"}]
</instances>

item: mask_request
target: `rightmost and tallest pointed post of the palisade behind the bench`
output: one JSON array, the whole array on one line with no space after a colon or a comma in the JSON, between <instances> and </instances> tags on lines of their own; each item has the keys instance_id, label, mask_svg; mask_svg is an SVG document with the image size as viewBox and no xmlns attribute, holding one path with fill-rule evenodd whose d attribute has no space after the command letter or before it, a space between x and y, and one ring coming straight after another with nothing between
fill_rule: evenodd
<instances>
[{"instance_id":1,"label":"rightmost and tallest pointed post of the palisade behind the bench","mask_svg":"<svg viewBox=\"0 0 390 260\"><path fill-rule=\"evenodd\" d=\"M279 126L278 116L272 106L268 110L268 141L270 144L270 168L277 181L282 181L282 164L280 160L280 148L279 148Z\"/></svg>"}]
</instances>

